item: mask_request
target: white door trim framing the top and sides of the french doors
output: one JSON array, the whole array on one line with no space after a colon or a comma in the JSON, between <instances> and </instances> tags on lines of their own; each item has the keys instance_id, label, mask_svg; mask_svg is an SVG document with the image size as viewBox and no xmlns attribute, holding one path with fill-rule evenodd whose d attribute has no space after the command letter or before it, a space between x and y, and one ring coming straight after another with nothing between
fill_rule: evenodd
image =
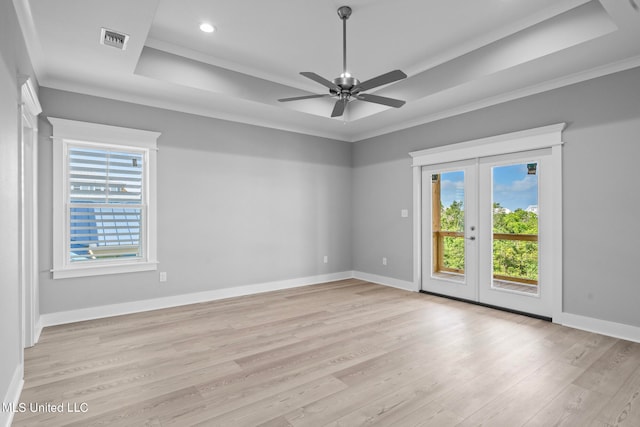
<instances>
[{"instance_id":1,"label":"white door trim framing the top and sides of the french doors","mask_svg":"<svg viewBox=\"0 0 640 427\"><path fill-rule=\"evenodd\" d=\"M488 138L450 144L409 153L413 166L413 266L414 286L422 283L422 167L460 160L479 159L502 154L551 148L554 169L553 213L550 235L553 240L553 258L560 260L553 265L552 318L559 322L562 314L562 131L566 123L512 132Z\"/></svg>"}]
</instances>

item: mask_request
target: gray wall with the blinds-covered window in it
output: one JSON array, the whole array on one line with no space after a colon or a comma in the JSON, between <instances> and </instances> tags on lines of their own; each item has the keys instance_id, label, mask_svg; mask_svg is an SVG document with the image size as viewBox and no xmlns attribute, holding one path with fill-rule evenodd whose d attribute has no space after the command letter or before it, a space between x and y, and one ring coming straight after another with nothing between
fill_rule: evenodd
<instances>
[{"instance_id":1,"label":"gray wall with the blinds-covered window in it","mask_svg":"<svg viewBox=\"0 0 640 427\"><path fill-rule=\"evenodd\" d=\"M51 125L42 118L42 313L351 269L350 144L44 87L40 101L41 117L162 132L158 258L168 275L51 279Z\"/></svg>"}]
</instances>

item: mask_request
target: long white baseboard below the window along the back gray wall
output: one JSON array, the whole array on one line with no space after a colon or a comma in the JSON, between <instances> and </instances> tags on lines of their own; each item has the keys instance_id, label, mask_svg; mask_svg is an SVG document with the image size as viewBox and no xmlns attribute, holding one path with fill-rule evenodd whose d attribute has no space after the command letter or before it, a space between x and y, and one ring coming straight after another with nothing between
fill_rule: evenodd
<instances>
[{"instance_id":1,"label":"long white baseboard below the window along the back gray wall","mask_svg":"<svg viewBox=\"0 0 640 427\"><path fill-rule=\"evenodd\" d=\"M191 294L125 302L121 304L110 304L56 313L44 313L40 315L40 327L42 328L46 326L62 325L65 323L81 322L84 320L102 319L105 317L140 313L144 311L159 310L162 308L177 307L181 305L198 304L201 302L214 301L224 298L252 295L262 292L277 291L281 289L297 288L300 286L315 285L335 280L351 279L352 277L353 275L351 271L344 271L340 273L321 274L317 276L301 277L297 279L279 280L275 282L259 283L254 285L215 289L211 291L196 292Z\"/></svg>"}]
</instances>

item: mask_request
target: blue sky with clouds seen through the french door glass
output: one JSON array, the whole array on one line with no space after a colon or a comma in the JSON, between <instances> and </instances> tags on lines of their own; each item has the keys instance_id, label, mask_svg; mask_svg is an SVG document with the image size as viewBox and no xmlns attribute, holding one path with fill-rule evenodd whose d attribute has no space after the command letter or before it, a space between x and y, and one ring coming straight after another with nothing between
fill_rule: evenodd
<instances>
[{"instance_id":1,"label":"blue sky with clouds seen through the french door glass","mask_svg":"<svg viewBox=\"0 0 640 427\"><path fill-rule=\"evenodd\" d=\"M464 200L463 172L445 172L441 179L441 198L445 207L454 200ZM537 205L538 175L528 175L526 163L494 167L493 201L512 211Z\"/></svg>"}]
</instances>

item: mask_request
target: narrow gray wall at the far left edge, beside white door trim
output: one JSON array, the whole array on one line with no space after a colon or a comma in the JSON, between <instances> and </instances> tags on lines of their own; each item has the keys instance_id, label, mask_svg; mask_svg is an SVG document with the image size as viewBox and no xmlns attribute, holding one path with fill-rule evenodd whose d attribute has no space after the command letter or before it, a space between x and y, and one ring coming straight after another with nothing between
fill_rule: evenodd
<instances>
[{"instance_id":1,"label":"narrow gray wall at the far left edge, beside white door trim","mask_svg":"<svg viewBox=\"0 0 640 427\"><path fill-rule=\"evenodd\" d=\"M0 399L22 363L18 276L19 151L18 75L33 75L18 18L0 1ZM13 397L13 396L9 396ZM8 413L0 411L0 425Z\"/></svg>"}]
</instances>

